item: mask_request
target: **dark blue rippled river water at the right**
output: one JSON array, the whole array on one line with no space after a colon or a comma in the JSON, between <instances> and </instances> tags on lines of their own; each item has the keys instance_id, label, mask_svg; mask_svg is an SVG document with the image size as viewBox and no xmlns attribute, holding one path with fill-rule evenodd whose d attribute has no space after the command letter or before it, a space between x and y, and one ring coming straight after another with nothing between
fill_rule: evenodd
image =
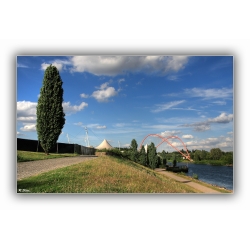
<instances>
[{"instance_id":1,"label":"dark blue rippled river water at the right","mask_svg":"<svg viewBox=\"0 0 250 250\"><path fill-rule=\"evenodd\" d=\"M193 174L197 174L200 181L233 190L233 167L188 163L187 175L193 176Z\"/></svg>"}]
</instances>

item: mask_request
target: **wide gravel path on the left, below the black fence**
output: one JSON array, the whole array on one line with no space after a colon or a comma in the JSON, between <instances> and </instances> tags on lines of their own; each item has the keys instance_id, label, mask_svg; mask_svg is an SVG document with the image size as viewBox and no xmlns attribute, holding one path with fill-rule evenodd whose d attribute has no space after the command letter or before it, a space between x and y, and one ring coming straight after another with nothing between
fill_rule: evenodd
<instances>
[{"instance_id":1,"label":"wide gravel path on the left, below the black fence","mask_svg":"<svg viewBox=\"0 0 250 250\"><path fill-rule=\"evenodd\" d=\"M17 180L44 173L53 169L67 167L84 161L90 161L95 158L95 156L74 156L49 160L18 162Z\"/></svg>"}]
</instances>

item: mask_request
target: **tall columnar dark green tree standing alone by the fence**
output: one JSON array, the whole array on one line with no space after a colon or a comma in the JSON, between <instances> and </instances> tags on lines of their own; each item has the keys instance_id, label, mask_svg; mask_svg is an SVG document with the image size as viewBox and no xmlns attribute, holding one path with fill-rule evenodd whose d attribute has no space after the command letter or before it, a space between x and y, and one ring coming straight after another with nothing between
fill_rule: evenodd
<instances>
[{"instance_id":1,"label":"tall columnar dark green tree standing alone by the fence","mask_svg":"<svg viewBox=\"0 0 250 250\"><path fill-rule=\"evenodd\" d=\"M62 84L58 69L47 67L36 109L38 140L46 154L56 144L65 124Z\"/></svg>"}]
</instances>

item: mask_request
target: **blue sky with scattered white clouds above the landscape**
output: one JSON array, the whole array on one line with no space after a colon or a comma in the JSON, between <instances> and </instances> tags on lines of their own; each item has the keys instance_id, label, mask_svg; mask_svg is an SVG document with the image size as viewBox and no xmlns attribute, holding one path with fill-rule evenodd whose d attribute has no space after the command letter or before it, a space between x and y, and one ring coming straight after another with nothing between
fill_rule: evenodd
<instances>
[{"instance_id":1,"label":"blue sky with scattered white clouds above the landscape","mask_svg":"<svg viewBox=\"0 0 250 250\"><path fill-rule=\"evenodd\" d=\"M63 81L66 122L58 142L138 146L149 134L179 150L233 151L233 56L17 56L17 137L37 140L45 69ZM144 141L157 146L161 139ZM172 152L162 143L158 151Z\"/></svg>"}]
</instances>

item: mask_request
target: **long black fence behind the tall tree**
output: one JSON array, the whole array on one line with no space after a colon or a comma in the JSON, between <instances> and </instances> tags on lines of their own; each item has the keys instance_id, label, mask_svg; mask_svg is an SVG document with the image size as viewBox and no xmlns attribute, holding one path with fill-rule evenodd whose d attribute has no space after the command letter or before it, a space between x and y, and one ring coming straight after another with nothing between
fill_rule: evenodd
<instances>
[{"instance_id":1,"label":"long black fence behind the tall tree","mask_svg":"<svg viewBox=\"0 0 250 250\"><path fill-rule=\"evenodd\" d=\"M37 140L28 140L17 138L17 150L31 151L31 152L44 152L40 143ZM61 143L58 142L50 150L50 153L77 153L80 155L94 155L95 148L88 148L78 144Z\"/></svg>"}]
</instances>

